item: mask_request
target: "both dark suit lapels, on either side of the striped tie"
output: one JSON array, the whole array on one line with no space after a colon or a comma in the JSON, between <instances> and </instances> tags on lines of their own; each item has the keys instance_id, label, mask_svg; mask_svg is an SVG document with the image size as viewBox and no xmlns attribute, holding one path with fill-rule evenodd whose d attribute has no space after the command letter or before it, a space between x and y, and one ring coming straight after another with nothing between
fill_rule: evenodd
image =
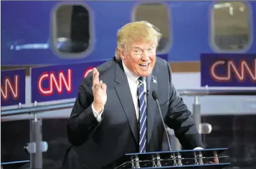
<instances>
[{"instance_id":1,"label":"both dark suit lapels, on either side of the striped tie","mask_svg":"<svg viewBox=\"0 0 256 169\"><path fill-rule=\"evenodd\" d=\"M120 103L125 112L125 116L128 119L128 123L132 130L133 136L138 143L138 123L136 118L136 111L133 105L133 98L131 96L130 86L126 78L125 72L123 71L123 65L121 61L116 61L115 64L115 91L118 95ZM156 115L157 104L152 97L152 92L157 91L157 79L153 72L146 78L148 97L147 97L147 143L151 140L153 132L153 123Z\"/></svg>"}]
</instances>

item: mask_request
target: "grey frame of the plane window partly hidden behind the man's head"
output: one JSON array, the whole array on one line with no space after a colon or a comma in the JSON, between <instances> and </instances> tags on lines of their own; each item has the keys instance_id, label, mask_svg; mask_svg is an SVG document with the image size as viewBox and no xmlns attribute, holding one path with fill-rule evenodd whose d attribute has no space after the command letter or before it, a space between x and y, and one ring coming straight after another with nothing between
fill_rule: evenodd
<instances>
[{"instance_id":1,"label":"grey frame of the plane window partly hidden behind the man's head","mask_svg":"<svg viewBox=\"0 0 256 169\"><path fill-rule=\"evenodd\" d=\"M167 14L168 14L168 24L169 24L169 36L168 36L169 37L169 42L166 43L166 47L163 48L163 50L156 51L156 53L157 54L169 53L169 51L171 50L171 48L173 46L173 43L174 43L173 29L171 29L171 28L174 28L173 23L172 23L173 17L172 17L171 9L170 9L169 5L166 4L166 2L164 2L164 1L156 1L156 0L155 1L139 1L139 2L136 2L136 4L133 6L133 9L131 11L131 21L136 21L136 11L138 10L138 7L143 5L143 4L163 4L164 6L166 6ZM160 31L161 31L161 29L160 29Z\"/></svg>"}]
</instances>

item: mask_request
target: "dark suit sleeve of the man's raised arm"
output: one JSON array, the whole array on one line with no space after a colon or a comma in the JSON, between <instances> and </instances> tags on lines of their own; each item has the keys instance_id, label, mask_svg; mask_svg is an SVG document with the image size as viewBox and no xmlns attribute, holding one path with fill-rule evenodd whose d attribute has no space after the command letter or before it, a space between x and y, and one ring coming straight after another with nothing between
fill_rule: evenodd
<instances>
[{"instance_id":1,"label":"dark suit sleeve of the man's raised arm","mask_svg":"<svg viewBox=\"0 0 256 169\"><path fill-rule=\"evenodd\" d=\"M79 87L78 95L67 124L67 138L72 145L82 145L100 125L93 113L93 91L84 79ZM100 114L103 116L103 113ZM102 117L103 118L103 117Z\"/></svg>"}]
</instances>

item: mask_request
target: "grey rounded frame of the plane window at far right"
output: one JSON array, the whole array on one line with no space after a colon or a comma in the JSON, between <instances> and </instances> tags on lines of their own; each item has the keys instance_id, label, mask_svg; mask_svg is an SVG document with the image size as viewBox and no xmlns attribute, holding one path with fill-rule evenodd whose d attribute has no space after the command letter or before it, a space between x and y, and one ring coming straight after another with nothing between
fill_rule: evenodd
<instances>
[{"instance_id":1,"label":"grey rounded frame of the plane window at far right","mask_svg":"<svg viewBox=\"0 0 256 169\"><path fill-rule=\"evenodd\" d=\"M227 49L222 49L217 46L215 42L215 30L214 30L214 5L219 4L220 2L225 2L225 1L214 1L210 4L209 6L209 46L212 48L212 51L217 52L217 53L245 53L247 52L253 43L253 19L252 19L252 5L248 3L247 1L229 1L228 3L232 2L240 2L242 4L245 4L247 6L248 10L248 20L249 20L249 41L247 43L247 46L245 48L239 49L239 50L227 50Z\"/></svg>"}]
</instances>

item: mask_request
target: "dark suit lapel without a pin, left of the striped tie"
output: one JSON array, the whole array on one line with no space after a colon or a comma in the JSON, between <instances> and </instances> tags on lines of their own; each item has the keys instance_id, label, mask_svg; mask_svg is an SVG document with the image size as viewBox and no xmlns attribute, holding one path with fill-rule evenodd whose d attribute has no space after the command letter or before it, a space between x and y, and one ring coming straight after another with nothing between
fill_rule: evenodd
<instances>
[{"instance_id":1,"label":"dark suit lapel without a pin, left of the striped tie","mask_svg":"<svg viewBox=\"0 0 256 169\"><path fill-rule=\"evenodd\" d=\"M115 91L118 95L120 103L123 107L123 111L128 119L133 136L138 143L138 124L136 118L136 111L133 104L133 98L131 96L130 86L123 71L123 65L121 61L116 61L115 64Z\"/></svg>"}]
</instances>

